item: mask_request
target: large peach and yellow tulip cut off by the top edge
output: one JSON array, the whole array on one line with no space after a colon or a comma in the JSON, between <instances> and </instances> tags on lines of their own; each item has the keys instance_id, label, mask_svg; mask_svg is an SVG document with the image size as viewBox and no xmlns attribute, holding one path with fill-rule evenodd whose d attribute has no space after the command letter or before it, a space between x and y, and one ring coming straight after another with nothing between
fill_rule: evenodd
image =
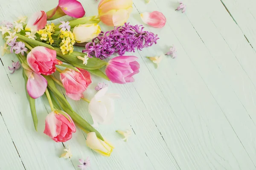
<instances>
[{"instance_id":1,"label":"large peach and yellow tulip cut off by the top edge","mask_svg":"<svg viewBox=\"0 0 256 170\"><path fill-rule=\"evenodd\" d=\"M122 26L132 11L132 0L101 0L99 18L107 26Z\"/></svg>"}]
</instances>

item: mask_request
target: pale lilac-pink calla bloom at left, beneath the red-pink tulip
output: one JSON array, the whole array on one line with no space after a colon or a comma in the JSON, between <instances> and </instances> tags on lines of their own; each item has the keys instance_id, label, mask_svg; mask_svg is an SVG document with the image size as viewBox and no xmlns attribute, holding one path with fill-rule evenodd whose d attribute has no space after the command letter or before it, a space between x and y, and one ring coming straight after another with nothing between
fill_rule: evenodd
<instances>
[{"instance_id":1,"label":"pale lilac-pink calla bloom at left, beneath the red-pink tulip","mask_svg":"<svg viewBox=\"0 0 256 170\"><path fill-rule=\"evenodd\" d=\"M46 91L47 80L40 74L31 71L26 88L29 96L31 96L33 99L37 99Z\"/></svg>"}]
</instances>

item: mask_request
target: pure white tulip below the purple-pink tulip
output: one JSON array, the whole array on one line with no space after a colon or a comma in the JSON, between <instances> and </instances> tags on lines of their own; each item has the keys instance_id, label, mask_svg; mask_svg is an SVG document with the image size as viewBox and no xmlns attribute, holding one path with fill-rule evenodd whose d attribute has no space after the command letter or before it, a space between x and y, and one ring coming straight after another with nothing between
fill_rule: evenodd
<instances>
[{"instance_id":1,"label":"pure white tulip below the purple-pink tulip","mask_svg":"<svg viewBox=\"0 0 256 170\"><path fill-rule=\"evenodd\" d=\"M109 125L113 122L114 117L114 97L116 94L106 94L108 87L98 91L89 104L89 113L93 118L93 126L98 127L99 124Z\"/></svg>"}]
</instances>

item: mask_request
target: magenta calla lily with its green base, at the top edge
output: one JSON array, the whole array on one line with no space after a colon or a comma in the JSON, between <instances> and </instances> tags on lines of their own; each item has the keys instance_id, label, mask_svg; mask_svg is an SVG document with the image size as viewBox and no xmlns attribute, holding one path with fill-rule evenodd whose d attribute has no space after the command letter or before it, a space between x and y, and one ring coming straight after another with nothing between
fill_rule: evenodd
<instances>
[{"instance_id":1,"label":"magenta calla lily with its green base, at the top edge","mask_svg":"<svg viewBox=\"0 0 256 170\"><path fill-rule=\"evenodd\" d=\"M59 0L58 6L47 12L47 20L55 20L64 15L81 18L84 14L83 6L77 0Z\"/></svg>"}]
</instances>

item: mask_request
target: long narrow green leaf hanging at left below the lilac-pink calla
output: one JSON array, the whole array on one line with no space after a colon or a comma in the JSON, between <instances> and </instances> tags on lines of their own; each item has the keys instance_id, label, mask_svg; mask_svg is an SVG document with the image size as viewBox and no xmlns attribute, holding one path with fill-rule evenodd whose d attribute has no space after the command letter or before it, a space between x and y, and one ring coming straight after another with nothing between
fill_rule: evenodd
<instances>
[{"instance_id":1,"label":"long narrow green leaf hanging at left below the lilac-pink calla","mask_svg":"<svg viewBox=\"0 0 256 170\"><path fill-rule=\"evenodd\" d=\"M24 69L23 69L23 77L24 77L24 80L25 80L25 89L26 89L26 84L27 84L27 81L28 81L28 77L26 77ZM29 100L29 106L30 106L32 119L33 119L33 122L34 122L35 130L37 131L38 118L37 118L36 110L35 110L35 99L33 99L32 97L29 96L27 90L26 90L26 96Z\"/></svg>"}]
</instances>

